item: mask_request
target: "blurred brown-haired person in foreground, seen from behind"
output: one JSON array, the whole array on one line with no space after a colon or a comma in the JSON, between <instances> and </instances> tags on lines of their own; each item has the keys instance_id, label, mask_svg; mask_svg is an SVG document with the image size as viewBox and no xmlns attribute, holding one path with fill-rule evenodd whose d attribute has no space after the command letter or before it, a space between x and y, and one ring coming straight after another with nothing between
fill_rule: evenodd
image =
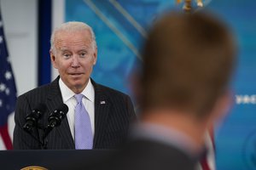
<instances>
[{"instance_id":1,"label":"blurred brown-haired person in foreground, seen from behind","mask_svg":"<svg viewBox=\"0 0 256 170\"><path fill-rule=\"evenodd\" d=\"M207 127L230 107L230 30L205 12L167 14L149 31L143 60L141 122L100 168L195 169Z\"/></svg>"}]
</instances>

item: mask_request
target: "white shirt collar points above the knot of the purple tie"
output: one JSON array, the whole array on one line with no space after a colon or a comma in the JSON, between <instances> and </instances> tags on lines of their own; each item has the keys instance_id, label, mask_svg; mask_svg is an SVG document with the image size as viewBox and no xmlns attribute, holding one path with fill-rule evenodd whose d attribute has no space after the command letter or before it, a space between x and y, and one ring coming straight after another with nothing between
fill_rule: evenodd
<instances>
[{"instance_id":1,"label":"white shirt collar points above the knot of the purple tie","mask_svg":"<svg viewBox=\"0 0 256 170\"><path fill-rule=\"evenodd\" d=\"M67 87L67 85L61 80L61 78L59 80L59 86L61 88L61 95L62 95L63 102L66 103L67 100L72 98L75 93L73 93L73 91ZM95 92L90 79L81 94L84 94L84 96L87 99L89 99L91 102L94 102Z\"/></svg>"}]
</instances>

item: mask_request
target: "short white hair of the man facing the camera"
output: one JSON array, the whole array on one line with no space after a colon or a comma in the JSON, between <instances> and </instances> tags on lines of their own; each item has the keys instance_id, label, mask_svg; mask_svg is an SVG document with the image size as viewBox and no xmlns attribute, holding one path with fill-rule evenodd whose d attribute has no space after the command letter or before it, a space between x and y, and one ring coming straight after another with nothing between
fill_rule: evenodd
<instances>
[{"instance_id":1,"label":"short white hair of the man facing the camera","mask_svg":"<svg viewBox=\"0 0 256 170\"><path fill-rule=\"evenodd\" d=\"M95 37L95 33L92 30L92 28L90 26L88 26L87 24L85 24L84 22L69 21L69 22L65 22L65 23L61 24L61 26L59 26L59 27L56 27L55 30L52 32L51 37L50 37L50 49L51 50L55 49L55 38L56 38L56 35L61 31L67 31L67 32L90 31L91 45L94 50L96 49L96 37Z\"/></svg>"}]
</instances>

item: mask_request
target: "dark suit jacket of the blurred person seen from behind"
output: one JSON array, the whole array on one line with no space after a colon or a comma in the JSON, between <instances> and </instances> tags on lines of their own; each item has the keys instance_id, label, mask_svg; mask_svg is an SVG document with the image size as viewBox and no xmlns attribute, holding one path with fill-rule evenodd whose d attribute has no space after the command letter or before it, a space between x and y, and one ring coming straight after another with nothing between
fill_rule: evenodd
<instances>
[{"instance_id":1,"label":"dark suit jacket of the blurred person seen from behind","mask_svg":"<svg viewBox=\"0 0 256 170\"><path fill-rule=\"evenodd\" d=\"M97 161L91 169L111 170L195 170L196 159L171 144L163 144L150 139L135 139L118 152Z\"/></svg>"}]
</instances>

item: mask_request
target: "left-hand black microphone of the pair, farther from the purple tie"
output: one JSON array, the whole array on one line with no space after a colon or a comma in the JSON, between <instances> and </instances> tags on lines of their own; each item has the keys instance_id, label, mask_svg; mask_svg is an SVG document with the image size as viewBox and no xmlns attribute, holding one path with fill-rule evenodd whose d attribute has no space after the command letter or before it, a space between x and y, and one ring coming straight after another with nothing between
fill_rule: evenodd
<instances>
[{"instance_id":1,"label":"left-hand black microphone of the pair, farther from the purple tie","mask_svg":"<svg viewBox=\"0 0 256 170\"><path fill-rule=\"evenodd\" d=\"M32 132L32 127L38 126L38 119L44 114L46 111L46 105L39 103L35 109L32 110L32 113L26 116L26 122L23 126L23 129L27 133Z\"/></svg>"}]
</instances>

